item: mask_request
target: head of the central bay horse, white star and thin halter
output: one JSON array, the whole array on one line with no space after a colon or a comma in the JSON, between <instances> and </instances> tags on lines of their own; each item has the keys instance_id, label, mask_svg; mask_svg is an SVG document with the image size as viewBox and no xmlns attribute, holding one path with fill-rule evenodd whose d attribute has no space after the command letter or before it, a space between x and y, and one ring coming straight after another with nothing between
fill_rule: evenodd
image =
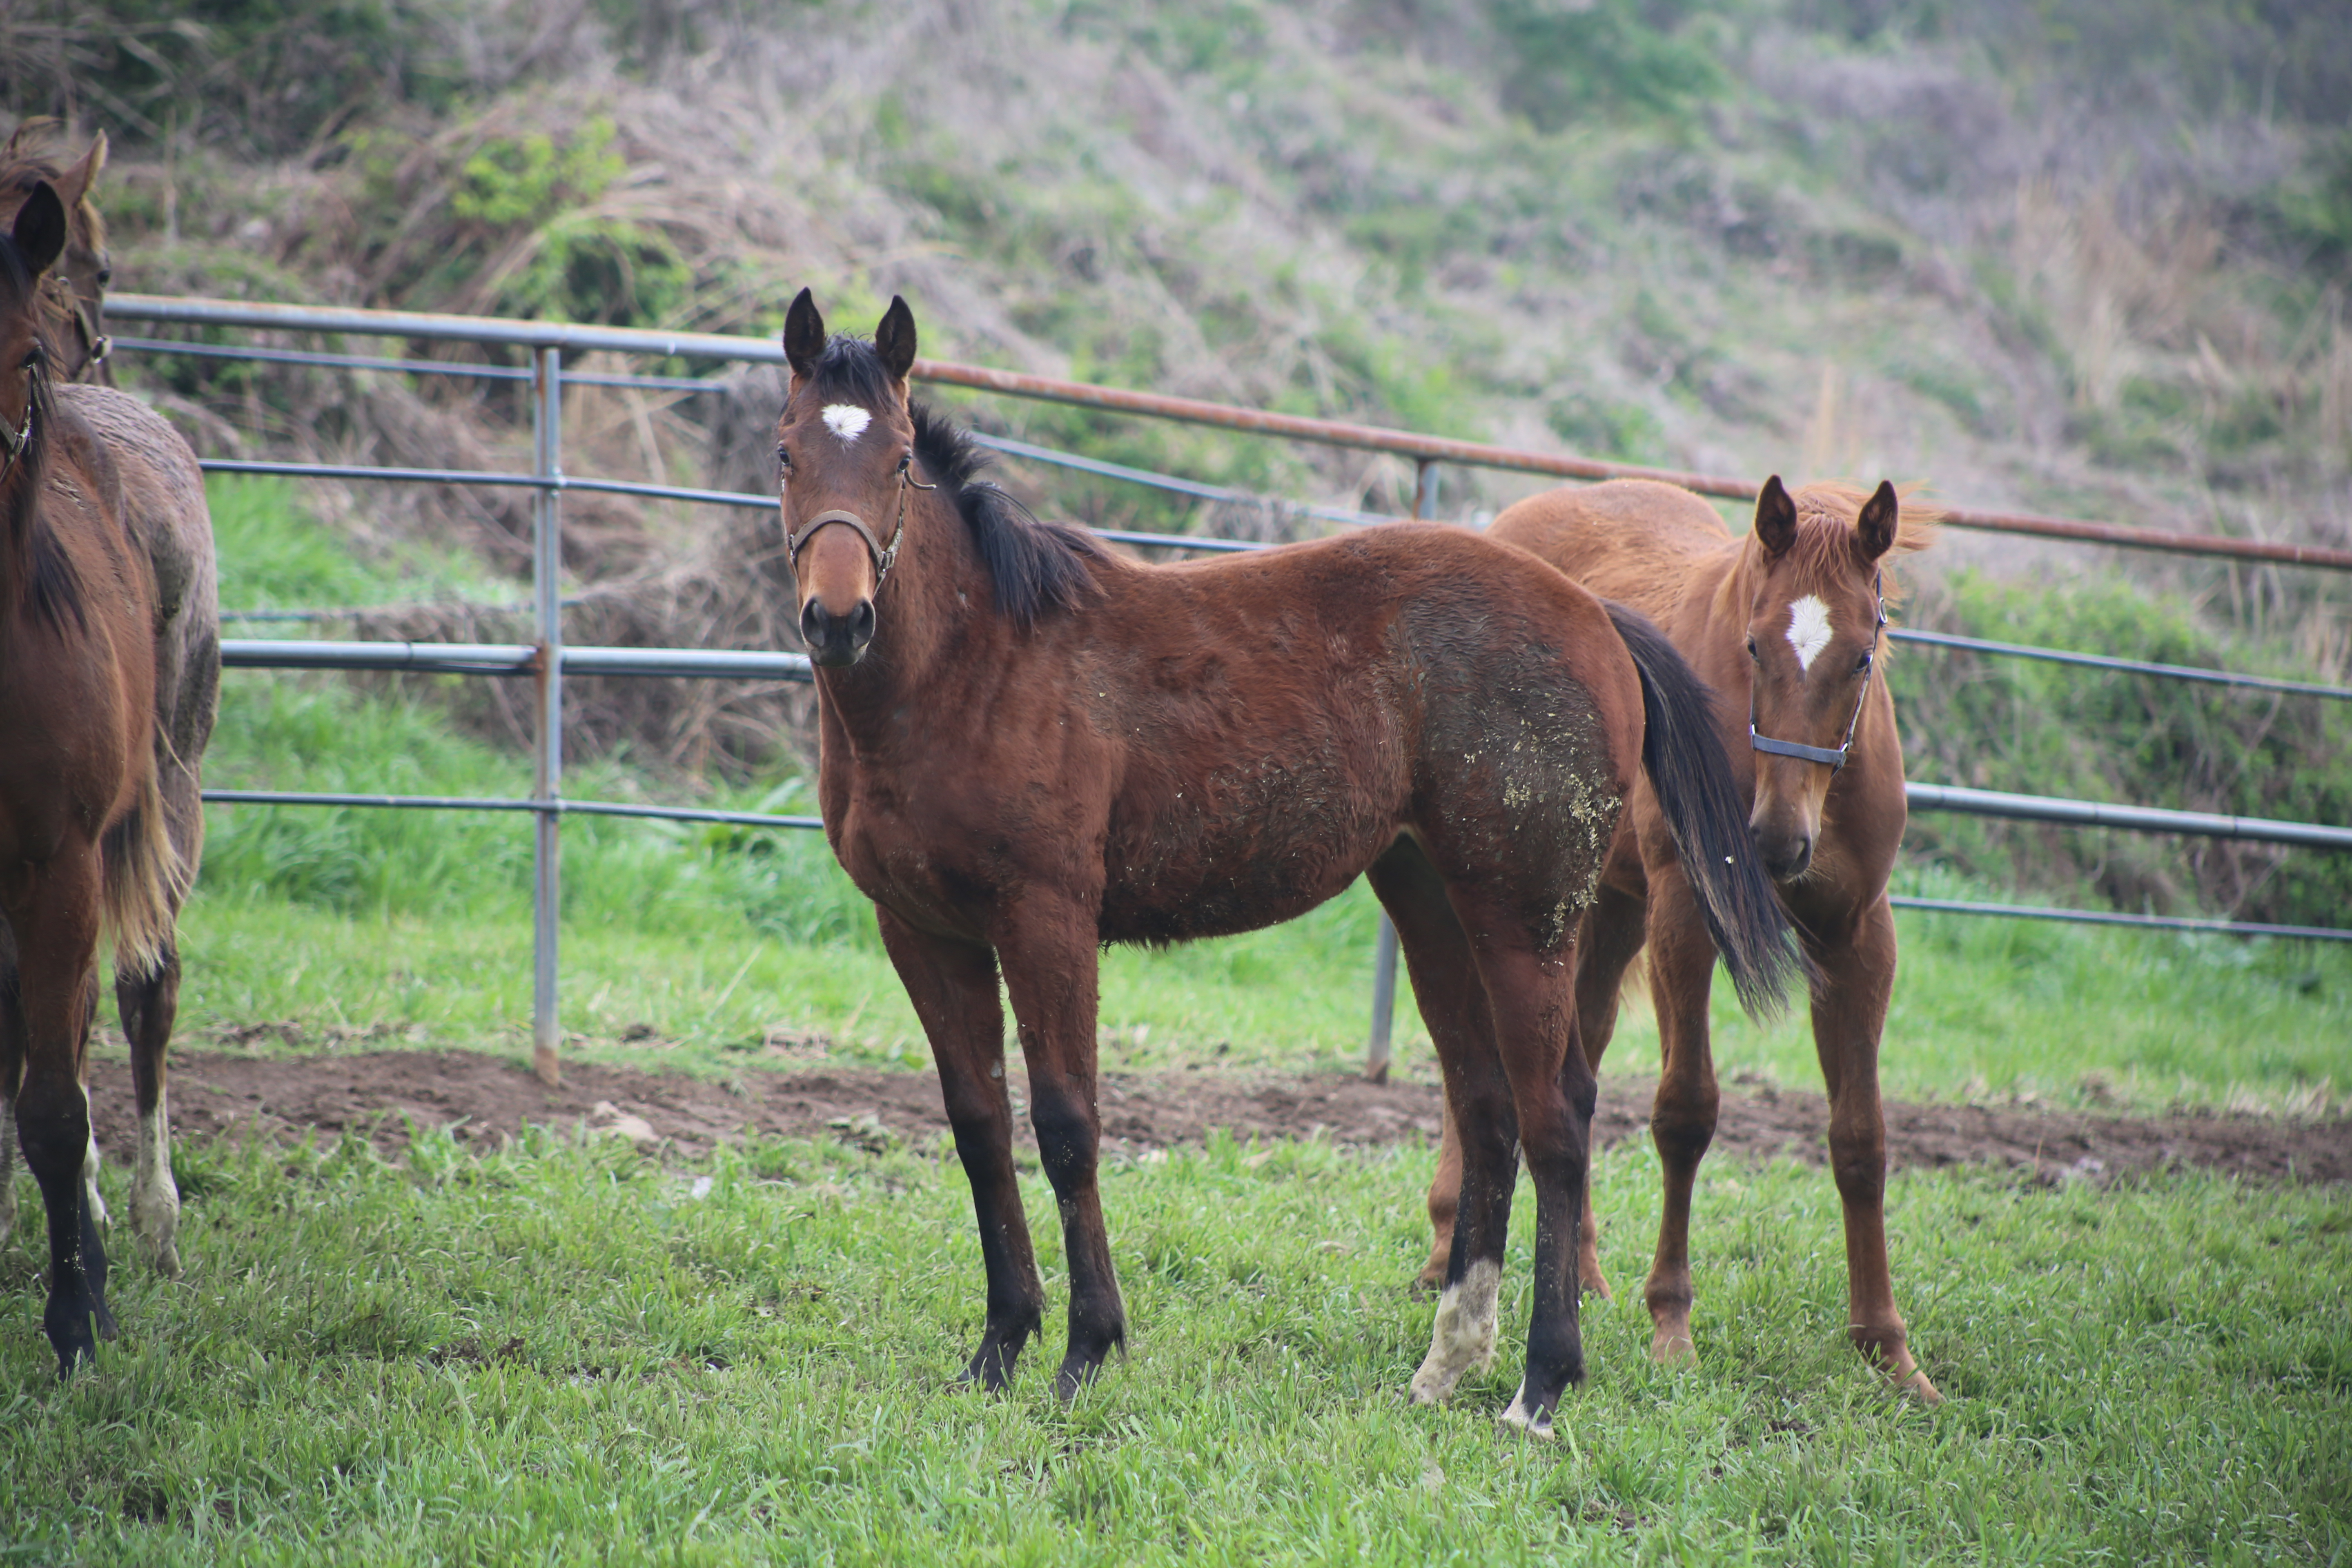
<instances>
[{"instance_id":1,"label":"head of the central bay horse, white star and thin halter","mask_svg":"<svg viewBox=\"0 0 2352 1568\"><path fill-rule=\"evenodd\" d=\"M873 346L828 341L807 289L783 317L793 367L776 421L783 541L809 661L844 668L877 630L875 595L898 559L915 475L915 313L891 296Z\"/></svg>"}]
</instances>

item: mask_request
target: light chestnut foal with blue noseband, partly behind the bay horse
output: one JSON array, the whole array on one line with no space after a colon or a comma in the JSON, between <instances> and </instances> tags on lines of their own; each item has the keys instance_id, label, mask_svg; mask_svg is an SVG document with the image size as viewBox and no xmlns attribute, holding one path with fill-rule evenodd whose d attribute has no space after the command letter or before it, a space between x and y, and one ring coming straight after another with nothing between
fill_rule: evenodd
<instances>
[{"instance_id":1,"label":"light chestnut foal with blue noseband, partly behind the bay horse","mask_svg":"<svg viewBox=\"0 0 2352 1568\"><path fill-rule=\"evenodd\" d=\"M1846 1324L1856 1347L1922 1399L1936 1385L1912 1361L1886 1269L1886 1121L1879 1112L1879 1032L1896 978L1886 875L1903 839L1903 743L1886 682L1882 562L1929 543L1929 515L1891 484L1863 498L1809 484L1795 498L1778 475L1757 501L1755 531L1731 538L1715 508L1686 489L1618 480L1531 496L1489 529L1566 571L1592 592L1632 604L1715 689L1715 726L1736 757L1755 851L1804 943L1813 1044L1830 1086L1830 1164L1846 1208ZM1649 943L1665 1070L1651 1138L1665 1175L1665 1220L1649 1272L1651 1354L1689 1361L1691 1185L1715 1138L1715 1060L1708 985L1715 954L1689 884L1689 858L1635 797L1618 830L1576 969L1583 1048L1599 1070L1616 1027L1618 987ZM1454 1121L1430 1187L1435 1279L1451 1229ZM1590 1204L1581 1274L1606 1295Z\"/></svg>"}]
</instances>

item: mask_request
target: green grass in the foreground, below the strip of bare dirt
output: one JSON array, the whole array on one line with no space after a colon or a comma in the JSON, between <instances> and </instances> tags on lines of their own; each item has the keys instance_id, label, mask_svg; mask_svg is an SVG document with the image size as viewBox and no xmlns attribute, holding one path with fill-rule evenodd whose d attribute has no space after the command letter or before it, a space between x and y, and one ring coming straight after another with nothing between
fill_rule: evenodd
<instances>
[{"instance_id":1,"label":"green grass in the foreground, below the strip of bare dirt","mask_svg":"<svg viewBox=\"0 0 2352 1568\"><path fill-rule=\"evenodd\" d=\"M708 1190L694 1180L708 1175ZM33 1234L0 1251L0 1519L31 1561L2340 1561L2352 1218L2201 1175L1891 1185L1938 1410L1844 1345L1818 1171L1710 1166L1696 1371L1585 1312L1555 1446L1496 1429L1524 1335L1444 1408L1430 1154L1319 1143L1120 1164L1134 1345L1075 1408L1054 1298L1009 1396L950 1392L978 1246L938 1147L774 1143L684 1171L532 1133L181 1150L191 1274L118 1272L125 1335L59 1387ZM1637 1288L1656 1159L1595 1175ZM38 1213L38 1211L35 1211Z\"/></svg>"}]
</instances>

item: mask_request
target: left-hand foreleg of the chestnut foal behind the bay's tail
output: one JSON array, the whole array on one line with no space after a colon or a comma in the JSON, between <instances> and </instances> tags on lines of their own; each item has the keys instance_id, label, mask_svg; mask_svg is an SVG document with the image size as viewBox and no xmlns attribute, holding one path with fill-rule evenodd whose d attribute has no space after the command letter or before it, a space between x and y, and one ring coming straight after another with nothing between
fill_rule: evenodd
<instances>
[{"instance_id":1,"label":"left-hand foreleg of the chestnut foal behind the bay's tail","mask_svg":"<svg viewBox=\"0 0 2352 1568\"><path fill-rule=\"evenodd\" d=\"M1649 1265L1651 1361L1696 1361L1691 1340L1691 1190L1698 1161L1715 1143L1719 1093L1708 1044L1708 987L1715 978L1715 945L1691 903L1682 872L1651 882L1649 992L1658 1009L1658 1048L1665 1056L1658 1093L1649 1112L1649 1135L1658 1145L1663 1213L1658 1251Z\"/></svg>"}]
</instances>

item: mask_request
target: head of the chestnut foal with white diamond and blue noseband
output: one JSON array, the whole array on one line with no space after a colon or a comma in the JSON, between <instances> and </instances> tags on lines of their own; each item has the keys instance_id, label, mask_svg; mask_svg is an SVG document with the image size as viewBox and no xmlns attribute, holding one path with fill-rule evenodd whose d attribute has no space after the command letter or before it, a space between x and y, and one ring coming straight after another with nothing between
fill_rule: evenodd
<instances>
[{"instance_id":1,"label":"head of the chestnut foal with white diamond and blue noseband","mask_svg":"<svg viewBox=\"0 0 2352 1568\"><path fill-rule=\"evenodd\" d=\"M1886 625L1882 562L1900 536L1893 484L1858 491L1813 484L1806 508L1780 487L1757 496L1750 536L1748 733L1757 752L1755 835L1776 882L1813 863L1830 783L1846 766ZM1851 517L1851 522L1849 522Z\"/></svg>"}]
</instances>

